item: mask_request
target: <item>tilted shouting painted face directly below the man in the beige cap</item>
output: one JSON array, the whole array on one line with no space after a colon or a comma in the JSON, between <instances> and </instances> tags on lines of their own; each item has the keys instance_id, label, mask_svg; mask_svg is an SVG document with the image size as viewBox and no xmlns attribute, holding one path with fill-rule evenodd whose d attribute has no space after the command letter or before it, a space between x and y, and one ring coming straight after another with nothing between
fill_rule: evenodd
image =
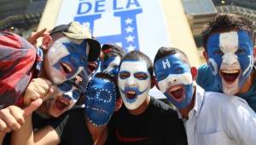
<instances>
[{"instance_id":1,"label":"tilted shouting painted face directly below the man in the beige cap","mask_svg":"<svg viewBox=\"0 0 256 145\"><path fill-rule=\"evenodd\" d=\"M83 70L75 78L58 84L55 87L52 99L47 101L49 114L53 117L59 117L72 108L79 97L84 94L88 79L86 72Z\"/></svg>"}]
</instances>

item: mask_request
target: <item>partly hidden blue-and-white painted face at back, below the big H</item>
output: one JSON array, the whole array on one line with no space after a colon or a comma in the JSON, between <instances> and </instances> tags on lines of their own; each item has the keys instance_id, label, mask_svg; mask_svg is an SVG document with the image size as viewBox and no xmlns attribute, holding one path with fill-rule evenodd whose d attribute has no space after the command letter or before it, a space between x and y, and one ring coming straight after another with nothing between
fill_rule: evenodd
<instances>
[{"instance_id":1,"label":"partly hidden blue-and-white painted face at back, below the big H","mask_svg":"<svg viewBox=\"0 0 256 145\"><path fill-rule=\"evenodd\" d=\"M112 76L117 76L119 73L120 61L121 59L119 56L109 57L108 60L102 62L101 71Z\"/></svg>"}]
</instances>

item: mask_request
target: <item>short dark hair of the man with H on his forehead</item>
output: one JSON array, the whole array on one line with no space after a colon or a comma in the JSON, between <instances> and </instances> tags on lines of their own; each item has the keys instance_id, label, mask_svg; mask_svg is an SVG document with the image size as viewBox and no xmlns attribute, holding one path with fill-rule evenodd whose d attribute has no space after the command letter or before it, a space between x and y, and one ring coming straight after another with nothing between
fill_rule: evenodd
<instances>
[{"instance_id":1,"label":"short dark hair of the man with H on his forehead","mask_svg":"<svg viewBox=\"0 0 256 145\"><path fill-rule=\"evenodd\" d=\"M158 49L156 55L154 56L154 63L161 58L166 57L166 55L175 55L177 53L183 55L185 59L183 61L189 64L188 56L181 49L176 49L172 47L161 47L160 49Z\"/></svg>"}]
</instances>

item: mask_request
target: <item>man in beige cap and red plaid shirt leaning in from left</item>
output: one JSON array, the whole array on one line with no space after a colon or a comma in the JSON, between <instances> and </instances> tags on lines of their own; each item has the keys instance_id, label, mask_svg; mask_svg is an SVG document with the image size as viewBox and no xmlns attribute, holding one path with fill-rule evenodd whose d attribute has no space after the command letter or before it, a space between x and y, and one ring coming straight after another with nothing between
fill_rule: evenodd
<instances>
[{"instance_id":1,"label":"man in beige cap and red plaid shirt leaning in from left","mask_svg":"<svg viewBox=\"0 0 256 145\"><path fill-rule=\"evenodd\" d=\"M38 70L40 78L47 83L44 88L46 92L49 92L47 94L49 96L52 92L50 87L52 83L61 84L67 79L74 78L84 67L87 67L87 61L95 61L101 52L101 46L92 38L89 28L79 25L78 22L56 26L49 35L46 34L41 46L45 50L44 56L42 49L34 49L24 38L7 32L1 33L1 42L3 45L3 49L1 49L3 51L1 53L1 57L3 56L1 72L3 75L0 81L3 85L1 85L0 94L1 96L4 95L1 97L3 101L0 102L2 107L15 103L23 94L30 79L38 77L32 76L33 70ZM38 63L34 64L35 61ZM35 69L30 71L31 67L35 67ZM37 85L30 89L35 91L32 94L26 94L25 102L26 100L36 100L38 97L47 98L42 96L44 91L41 94L36 93ZM8 99L4 99L7 96L9 96ZM3 102L4 104L2 104ZM22 97L18 100L18 104L23 105ZM19 123L9 108L5 109L4 112L0 110L0 113L0 131L19 129L23 123L23 121Z\"/></svg>"}]
</instances>

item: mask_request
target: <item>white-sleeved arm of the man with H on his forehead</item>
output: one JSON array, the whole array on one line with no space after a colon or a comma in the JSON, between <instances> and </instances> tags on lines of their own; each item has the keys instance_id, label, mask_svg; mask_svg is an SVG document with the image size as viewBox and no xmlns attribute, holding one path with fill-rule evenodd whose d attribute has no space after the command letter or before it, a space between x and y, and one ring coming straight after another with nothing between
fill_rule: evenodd
<instances>
[{"instance_id":1,"label":"white-sleeved arm of the man with H on his forehead","mask_svg":"<svg viewBox=\"0 0 256 145\"><path fill-rule=\"evenodd\" d=\"M223 126L230 139L243 145L251 145L256 142L256 113L239 97L230 98L230 102L224 105ZM224 107L223 106L223 107Z\"/></svg>"}]
</instances>

